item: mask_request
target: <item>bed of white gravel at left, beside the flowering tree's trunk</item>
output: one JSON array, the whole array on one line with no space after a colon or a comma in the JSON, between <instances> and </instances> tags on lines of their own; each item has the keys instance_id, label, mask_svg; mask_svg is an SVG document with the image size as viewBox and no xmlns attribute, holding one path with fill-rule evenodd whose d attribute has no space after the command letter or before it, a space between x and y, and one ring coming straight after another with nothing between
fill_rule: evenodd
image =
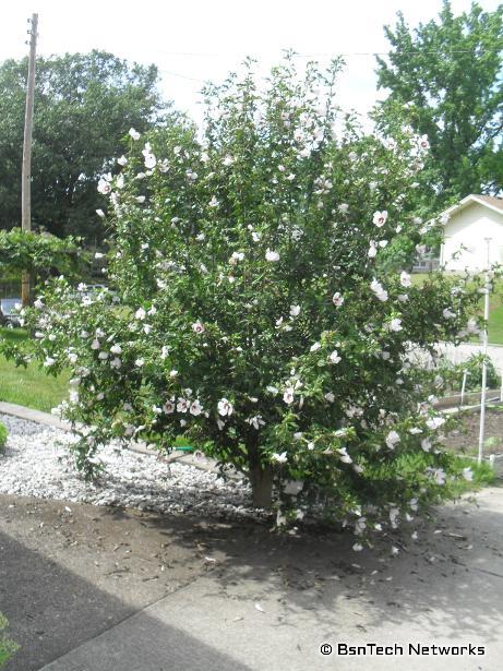
<instances>
[{"instance_id":1,"label":"bed of white gravel at left, beside the flowering tree's trunk","mask_svg":"<svg viewBox=\"0 0 503 671\"><path fill-rule=\"evenodd\" d=\"M0 421L9 431L0 453L0 493L158 513L261 516L251 507L244 481L112 444L98 453L105 466L99 480L85 482L69 451L75 440L71 433L8 415L0 415Z\"/></svg>"}]
</instances>

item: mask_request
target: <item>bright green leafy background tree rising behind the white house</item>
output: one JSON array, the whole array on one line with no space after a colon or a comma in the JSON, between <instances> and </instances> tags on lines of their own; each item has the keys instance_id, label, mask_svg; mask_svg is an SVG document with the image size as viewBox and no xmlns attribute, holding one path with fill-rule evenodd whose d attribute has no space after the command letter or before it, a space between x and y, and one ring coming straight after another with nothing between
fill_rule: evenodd
<instances>
[{"instance_id":1,"label":"bright green leafy background tree rising behind the white house","mask_svg":"<svg viewBox=\"0 0 503 671\"><path fill-rule=\"evenodd\" d=\"M419 178L417 208L438 214L468 193L503 188L503 7L453 14L444 0L438 21L411 31L402 13L378 83L390 92L384 125L409 123L431 145Z\"/></svg>"}]
</instances>

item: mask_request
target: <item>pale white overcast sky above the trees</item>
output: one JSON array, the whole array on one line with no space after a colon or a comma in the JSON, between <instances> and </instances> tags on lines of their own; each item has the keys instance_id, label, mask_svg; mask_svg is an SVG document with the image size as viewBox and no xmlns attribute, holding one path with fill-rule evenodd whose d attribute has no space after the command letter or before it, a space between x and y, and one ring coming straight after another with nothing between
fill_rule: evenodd
<instances>
[{"instance_id":1,"label":"pale white overcast sky above the trees","mask_svg":"<svg viewBox=\"0 0 503 671\"><path fill-rule=\"evenodd\" d=\"M494 10L499 0L481 0ZM453 0L456 13L470 0ZM16 0L2 3L0 60L27 53L26 19L38 13L43 55L104 49L143 63L154 62L163 92L179 109L199 118L199 89L220 81L245 55L264 69L283 49L320 55L324 62L347 53L339 101L364 113L375 100L375 59L387 50L383 25L402 10L416 26L436 16L441 0ZM350 56L349 56L350 55Z\"/></svg>"}]
</instances>

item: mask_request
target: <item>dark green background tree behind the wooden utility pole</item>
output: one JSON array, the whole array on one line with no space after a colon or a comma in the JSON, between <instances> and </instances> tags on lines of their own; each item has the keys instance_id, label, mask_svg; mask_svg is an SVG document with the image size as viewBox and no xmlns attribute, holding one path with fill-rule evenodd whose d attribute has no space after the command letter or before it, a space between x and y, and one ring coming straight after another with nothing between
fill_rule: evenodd
<instances>
[{"instance_id":1,"label":"dark green background tree behind the wooden utility pole","mask_svg":"<svg viewBox=\"0 0 503 671\"><path fill-rule=\"evenodd\" d=\"M0 65L0 228L20 225L26 59ZM97 177L132 125L159 123L166 106L157 68L101 51L37 59L32 213L34 228L59 237L103 236Z\"/></svg>"}]
</instances>

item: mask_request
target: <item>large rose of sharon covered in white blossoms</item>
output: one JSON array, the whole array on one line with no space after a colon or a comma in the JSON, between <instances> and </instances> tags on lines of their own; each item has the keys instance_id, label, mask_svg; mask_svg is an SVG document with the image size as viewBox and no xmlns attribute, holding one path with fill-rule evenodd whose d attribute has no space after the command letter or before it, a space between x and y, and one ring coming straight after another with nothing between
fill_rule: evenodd
<instances>
[{"instance_id":1,"label":"large rose of sharon covered in white blossoms","mask_svg":"<svg viewBox=\"0 0 503 671\"><path fill-rule=\"evenodd\" d=\"M111 439L182 434L245 472L255 505L301 518L318 502L359 534L463 477L438 448L442 381L407 352L477 329L479 297L380 271L388 241L417 235L400 207L428 143L363 135L334 104L338 68L301 79L287 58L261 92L248 63L206 89L201 135L131 129L99 183L108 290L59 278L25 313L48 371L73 371L61 410L87 427L86 472Z\"/></svg>"}]
</instances>

